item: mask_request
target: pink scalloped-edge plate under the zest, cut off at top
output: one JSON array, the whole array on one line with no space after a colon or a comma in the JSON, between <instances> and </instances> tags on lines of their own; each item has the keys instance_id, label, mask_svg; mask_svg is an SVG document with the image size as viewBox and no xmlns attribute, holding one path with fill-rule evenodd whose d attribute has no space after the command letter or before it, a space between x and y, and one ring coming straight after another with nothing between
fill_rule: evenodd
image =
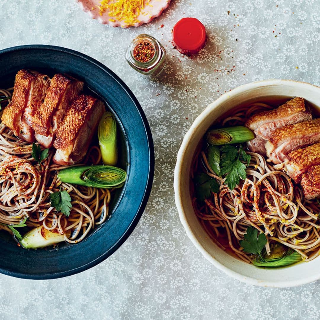
<instances>
[{"instance_id":1,"label":"pink scalloped-edge plate under the zest, cut off at top","mask_svg":"<svg viewBox=\"0 0 320 320\"><path fill-rule=\"evenodd\" d=\"M102 15L99 14L99 6L101 0L76 0L85 12L88 12L92 19L97 19L103 24L109 24L112 27L122 27L128 28L131 25L127 25L124 21L119 21L114 17L108 15L108 11L104 12ZM133 27L139 27L144 23L151 22L154 18L158 17L164 9L166 9L171 0L150 0L149 4L140 12L137 20L139 22L133 24ZM116 20L116 21L110 21Z\"/></svg>"}]
</instances>

